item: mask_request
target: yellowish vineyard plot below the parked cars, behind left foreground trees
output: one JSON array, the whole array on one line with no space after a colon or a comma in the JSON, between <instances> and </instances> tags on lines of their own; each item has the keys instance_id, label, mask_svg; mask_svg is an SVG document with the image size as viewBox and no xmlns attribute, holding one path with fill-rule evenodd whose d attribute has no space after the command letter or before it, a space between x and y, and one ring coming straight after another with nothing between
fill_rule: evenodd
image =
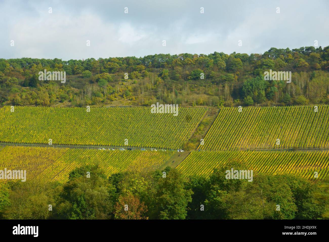
<instances>
[{"instance_id":1,"label":"yellowish vineyard plot below the parked cars, behind left foreground trees","mask_svg":"<svg viewBox=\"0 0 329 242\"><path fill-rule=\"evenodd\" d=\"M26 170L27 180L66 181L76 167L98 164L106 175L160 168L173 151L120 151L6 146L0 149L0 170Z\"/></svg>"}]
</instances>

